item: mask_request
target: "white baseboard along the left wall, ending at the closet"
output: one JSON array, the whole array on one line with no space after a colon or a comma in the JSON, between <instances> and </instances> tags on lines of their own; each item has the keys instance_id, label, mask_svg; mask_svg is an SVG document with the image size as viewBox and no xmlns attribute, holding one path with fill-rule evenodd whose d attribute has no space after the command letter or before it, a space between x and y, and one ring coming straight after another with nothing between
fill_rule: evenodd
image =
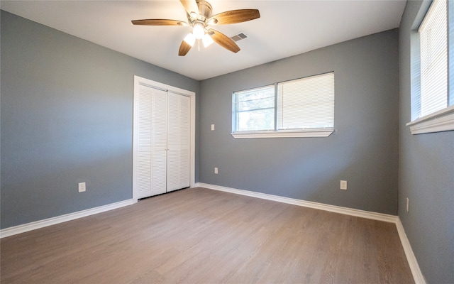
<instances>
[{"instance_id":1,"label":"white baseboard along the left wall, ending at the closet","mask_svg":"<svg viewBox=\"0 0 454 284\"><path fill-rule=\"evenodd\" d=\"M93 214L106 212L106 211L109 211L109 210L112 210L112 209L125 207L125 206L128 206L128 205L134 204L135 202L137 202L137 200L135 200L135 201L133 199L124 200L124 201L120 201L120 202L106 204L106 205L99 206L99 207L94 207L94 208L91 208L91 209L82 210L82 211L79 211L79 212L65 214L65 215L61 215L61 216L57 216L57 217L52 217L52 218L49 218L49 219L35 221L35 222L22 224L22 225L18 225L18 226L11 226L9 228L0 230L0 239L1 238L5 238L6 236L13 236L13 235L16 235L16 234L25 233L26 231L32 231L32 230L35 230L35 229L40 229L40 228L43 228L45 226L60 224L62 222L67 222L67 221L71 221L71 220L74 220L74 219L87 217L87 216L90 216L90 215L93 215Z\"/></svg>"}]
</instances>

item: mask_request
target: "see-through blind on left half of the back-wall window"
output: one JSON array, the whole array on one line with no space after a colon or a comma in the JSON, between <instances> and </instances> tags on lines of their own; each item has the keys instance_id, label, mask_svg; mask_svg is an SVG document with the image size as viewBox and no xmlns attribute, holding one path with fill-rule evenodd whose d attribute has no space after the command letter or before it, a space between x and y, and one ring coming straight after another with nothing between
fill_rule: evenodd
<instances>
[{"instance_id":1,"label":"see-through blind on left half of the back-wall window","mask_svg":"<svg viewBox=\"0 0 454 284\"><path fill-rule=\"evenodd\" d=\"M236 127L234 131L275 129L275 86L248 89L234 94Z\"/></svg>"}]
</instances>

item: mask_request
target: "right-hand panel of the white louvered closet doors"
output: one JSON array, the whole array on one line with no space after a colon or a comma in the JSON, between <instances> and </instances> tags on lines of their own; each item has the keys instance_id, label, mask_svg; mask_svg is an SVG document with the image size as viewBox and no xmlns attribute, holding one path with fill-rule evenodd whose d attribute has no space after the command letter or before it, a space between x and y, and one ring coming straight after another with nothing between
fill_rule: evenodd
<instances>
[{"instance_id":1,"label":"right-hand panel of the white louvered closet doors","mask_svg":"<svg viewBox=\"0 0 454 284\"><path fill-rule=\"evenodd\" d=\"M167 192L189 187L190 99L167 92Z\"/></svg>"}]
</instances>

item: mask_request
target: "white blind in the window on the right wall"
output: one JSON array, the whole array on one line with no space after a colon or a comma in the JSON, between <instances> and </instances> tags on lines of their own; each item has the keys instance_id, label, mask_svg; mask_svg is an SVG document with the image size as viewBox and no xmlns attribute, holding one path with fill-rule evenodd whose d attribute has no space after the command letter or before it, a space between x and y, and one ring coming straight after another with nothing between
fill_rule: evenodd
<instances>
[{"instance_id":1,"label":"white blind in the window on the right wall","mask_svg":"<svg viewBox=\"0 0 454 284\"><path fill-rule=\"evenodd\" d=\"M419 27L421 48L421 97L419 115L448 107L448 23L445 0L434 0Z\"/></svg>"}]
</instances>

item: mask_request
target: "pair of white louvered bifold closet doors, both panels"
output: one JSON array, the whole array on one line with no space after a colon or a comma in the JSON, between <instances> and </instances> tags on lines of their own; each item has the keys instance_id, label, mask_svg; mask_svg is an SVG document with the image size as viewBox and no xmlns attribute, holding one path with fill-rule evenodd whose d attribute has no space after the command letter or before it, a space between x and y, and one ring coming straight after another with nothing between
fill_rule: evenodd
<instances>
[{"instance_id":1,"label":"pair of white louvered bifold closet doors, both panels","mask_svg":"<svg viewBox=\"0 0 454 284\"><path fill-rule=\"evenodd\" d=\"M135 103L138 199L189 187L190 98L141 84Z\"/></svg>"}]
</instances>

